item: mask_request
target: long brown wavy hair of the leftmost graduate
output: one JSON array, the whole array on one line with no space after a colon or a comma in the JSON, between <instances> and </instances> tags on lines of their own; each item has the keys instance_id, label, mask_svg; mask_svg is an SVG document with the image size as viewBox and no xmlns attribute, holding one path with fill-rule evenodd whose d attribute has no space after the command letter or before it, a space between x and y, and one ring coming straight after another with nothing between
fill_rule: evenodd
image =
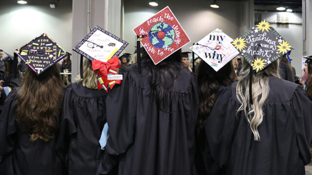
<instances>
[{"instance_id":1,"label":"long brown wavy hair of the leftmost graduate","mask_svg":"<svg viewBox=\"0 0 312 175\"><path fill-rule=\"evenodd\" d=\"M64 84L57 65L37 76L28 66L18 92L16 120L31 141L49 141L59 127Z\"/></svg>"}]
</instances>

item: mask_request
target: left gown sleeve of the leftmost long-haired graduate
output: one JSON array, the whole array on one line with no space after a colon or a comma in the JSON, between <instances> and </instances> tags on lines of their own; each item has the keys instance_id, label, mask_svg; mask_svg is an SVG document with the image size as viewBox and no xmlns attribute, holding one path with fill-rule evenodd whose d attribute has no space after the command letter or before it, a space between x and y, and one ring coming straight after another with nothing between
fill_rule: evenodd
<instances>
[{"instance_id":1,"label":"left gown sleeve of the leftmost long-haired graduate","mask_svg":"<svg viewBox=\"0 0 312 175\"><path fill-rule=\"evenodd\" d=\"M0 156L10 153L15 147L15 117L14 110L17 106L17 92L12 91L6 98L0 116Z\"/></svg>"}]
</instances>

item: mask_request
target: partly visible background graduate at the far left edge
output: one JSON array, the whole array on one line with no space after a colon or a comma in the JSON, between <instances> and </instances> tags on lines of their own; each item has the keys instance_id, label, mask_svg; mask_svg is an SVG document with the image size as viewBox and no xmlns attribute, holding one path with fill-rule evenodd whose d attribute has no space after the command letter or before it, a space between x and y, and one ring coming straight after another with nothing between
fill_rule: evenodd
<instances>
[{"instance_id":1,"label":"partly visible background graduate at the far left edge","mask_svg":"<svg viewBox=\"0 0 312 175\"><path fill-rule=\"evenodd\" d=\"M3 58L4 80L0 80L0 114L6 97L9 93L20 86L21 77L18 69L18 59L8 53Z\"/></svg>"}]
</instances>

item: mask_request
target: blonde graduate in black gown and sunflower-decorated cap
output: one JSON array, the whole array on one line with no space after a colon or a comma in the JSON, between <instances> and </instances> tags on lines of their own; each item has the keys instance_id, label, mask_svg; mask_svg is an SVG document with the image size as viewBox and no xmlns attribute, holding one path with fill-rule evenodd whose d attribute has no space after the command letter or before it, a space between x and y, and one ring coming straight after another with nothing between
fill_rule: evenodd
<instances>
[{"instance_id":1,"label":"blonde graduate in black gown and sunflower-decorated cap","mask_svg":"<svg viewBox=\"0 0 312 175\"><path fill-rule=\"evenodd\" d=\"M265 20L232 43L244 58L239 81L219 90L205 122L215 174L304 175L312 102L278 76L278 58L290 44Z\"/></svg>"}]
</instances>

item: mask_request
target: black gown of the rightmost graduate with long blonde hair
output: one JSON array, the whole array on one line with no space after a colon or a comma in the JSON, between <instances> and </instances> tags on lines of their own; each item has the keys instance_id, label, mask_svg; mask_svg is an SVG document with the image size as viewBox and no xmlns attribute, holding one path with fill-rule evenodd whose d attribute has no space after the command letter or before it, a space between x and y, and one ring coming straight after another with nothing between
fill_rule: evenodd
<instances>
[{"instance_id":1,"label":"black gown of the rightmost graduate with long blonde hair","mask_svg":"<svg viewBox=\"0 0 312 175\"><path fill-rule=\"evenodd\" d=\"M312 102L295 83L269 78L270 93L254 140L236 83L219 90L205 131L208 148L223 175L304 175L311 161ZM209 166L209 165L208 165ZM214 175L221 175L221 173Z\"/></svg>"}]
</instances>

